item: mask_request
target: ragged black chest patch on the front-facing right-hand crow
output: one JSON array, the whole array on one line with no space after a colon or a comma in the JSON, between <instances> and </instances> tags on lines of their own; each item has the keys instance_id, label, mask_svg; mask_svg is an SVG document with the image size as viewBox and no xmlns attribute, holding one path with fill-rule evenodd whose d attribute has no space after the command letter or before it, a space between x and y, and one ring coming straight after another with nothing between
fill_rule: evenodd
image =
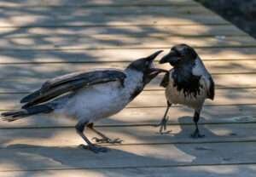
<instances>
[{"instance_id":1,"label":"ragged black chest patch on the front-facing right-hand crow","mask_svg":"<svg viewBox=\"0 0 256 177\"><path fill-rule=\"evenodd\" d=\"M177 66L172 72L173 87L176 87L179 92L183 91L185 97L196 97L200 94L200 88L202 87L200 84L201 77L192 74L194 65L194 63L188 63L183 66Z\"/></svg>"}]
</instances>

